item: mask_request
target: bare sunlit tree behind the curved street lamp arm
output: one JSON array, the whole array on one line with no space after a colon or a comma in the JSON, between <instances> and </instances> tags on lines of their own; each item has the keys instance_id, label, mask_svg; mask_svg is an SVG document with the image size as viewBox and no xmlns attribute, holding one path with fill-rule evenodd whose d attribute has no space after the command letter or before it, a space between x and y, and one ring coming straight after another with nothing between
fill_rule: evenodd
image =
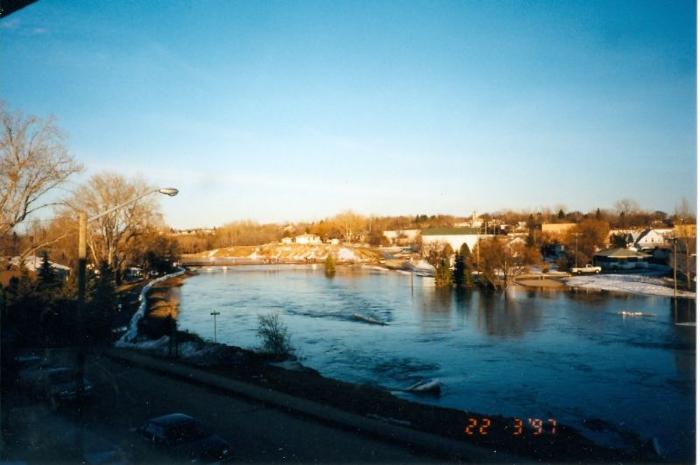
<instances>
[{"instance_id":1,"label":"bare sunlit tree behind the curved street lamp arm","mask_svg":"<svg viewBox=\"0 0 700 465\"><path fill-rule=\"evenodd\" d=\"M66 203L71 210L85 211L91 217L149 190L152 187L141 179L128 180L118 174L103 173L91 177ZM162 215L153 197L145 197L91 222L88 246L92 259L122 270L134 239L148 226L161 223Z\"/></svg>"}]
</instances>

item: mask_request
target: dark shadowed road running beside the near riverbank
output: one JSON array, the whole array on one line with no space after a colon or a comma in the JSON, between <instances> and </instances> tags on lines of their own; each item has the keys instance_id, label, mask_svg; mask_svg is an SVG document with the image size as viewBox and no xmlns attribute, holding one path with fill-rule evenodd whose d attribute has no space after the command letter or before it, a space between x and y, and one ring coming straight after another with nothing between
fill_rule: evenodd
<instances>
[{"instance_id":1,"label":"dark shadowed road running beside the near riverbank","mask_svg":"<svg viewBox=\"0 0 700 465\"><path fill-rule=\"evenodd\" d=\"M105 357L90 358L88 376L95 384L95 396L82 420L65 410L48 412L43 408L43 414L29 414L31 408L25 406L22 407L24 410L15 411L19 415L17 418L24 422L20 429L33 431L35 442L48 441L60 431L65 443L78 437L76 432L79 430L75 427L82 421L84 434L97 435L131 451L136 463L167 462L166 457L142 444L133 429L148 418L182 412L200 419L230 441L237 463L438 462L400 445L299 418ZM32 421L40 425L32 425ZM42 428L49 431L37 433ZM61 440L55 439L54 442L60 443ZM55 449L59 450L62 448ZM46 453L35 454L29 459L30 462L31 459L43 461Z\"/></svg>"}]
</instances>

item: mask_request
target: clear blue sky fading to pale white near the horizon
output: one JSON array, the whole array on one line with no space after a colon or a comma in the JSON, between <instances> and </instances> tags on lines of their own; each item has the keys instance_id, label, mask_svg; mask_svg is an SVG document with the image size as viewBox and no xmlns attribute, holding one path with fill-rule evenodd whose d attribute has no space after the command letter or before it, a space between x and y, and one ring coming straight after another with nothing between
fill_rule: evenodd
<instances>
[{"instance_id":1,"label":"clear blue sky fading to pale white near the horizon","mask_svg":"<svg viewBox=\"0 0 700 465\"><path fill-rule=\"evenodd\" d=\"M0 98L176 227L696 204L695 2L53 1Z\"/></svg>"}]
</instances>

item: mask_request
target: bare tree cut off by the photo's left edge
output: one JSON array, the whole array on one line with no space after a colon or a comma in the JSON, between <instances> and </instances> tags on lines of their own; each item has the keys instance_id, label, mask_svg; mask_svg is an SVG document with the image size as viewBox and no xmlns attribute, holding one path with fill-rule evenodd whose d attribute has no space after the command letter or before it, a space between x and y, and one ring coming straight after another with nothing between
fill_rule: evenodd
<instances>
[{"instance_id":1,"label":"bare tree cut off by the photo's left edge","mask_svg":"<svg viewBox=\"0 0 700 465\"><path fill-rule=\"evenodd\" d=\"M0 236L48 206L46 194L81 170L53 118L25 117L0 102Z\"/></svg>"}]
</instances>

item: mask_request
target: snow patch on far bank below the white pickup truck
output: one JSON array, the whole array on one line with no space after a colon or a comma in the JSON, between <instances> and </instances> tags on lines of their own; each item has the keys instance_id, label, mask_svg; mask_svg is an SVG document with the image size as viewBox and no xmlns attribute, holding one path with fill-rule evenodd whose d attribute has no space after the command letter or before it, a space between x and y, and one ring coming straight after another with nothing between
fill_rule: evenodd
<instances>
[{"instance_id":1,"label":"snow patch on far bank below the white pickup truck","mask_svg":"<svg viewBox=\"0 0 700 465\"><path fill-rule=\"evenodd\" d=\"M572 287L600 289L604 291L629 292L632 294L673 297L673 288L667 287L661 278L643 275L594 275L575 276L565 280ZM678 297L695 298L695 292L678 290Z\"/></svg>"}]
</instances>

